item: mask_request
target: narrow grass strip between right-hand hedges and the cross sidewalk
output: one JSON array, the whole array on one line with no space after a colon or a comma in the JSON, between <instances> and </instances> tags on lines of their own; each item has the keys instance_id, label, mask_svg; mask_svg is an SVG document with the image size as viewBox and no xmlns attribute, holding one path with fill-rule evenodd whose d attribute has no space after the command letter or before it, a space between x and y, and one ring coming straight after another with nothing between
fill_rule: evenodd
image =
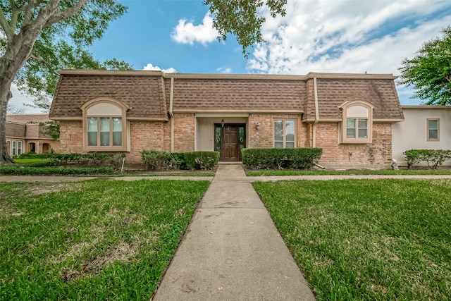
<instances>
[{"instance_id":1,"label":"narrow grass strip between right-hand hedges and the cross sidewalk","mask_svg":"<svg viewBox=\"0 0 451 301\"><path fill-rule=\"evenodd\" d=\"M335 175L451 175L451 168L444 169L414 169L398 170L383 169L380 171L349 170L349 171L292 171L292 170L259 170L246 171L247 176L335 176Z\"/></svg>"}]
</instances>

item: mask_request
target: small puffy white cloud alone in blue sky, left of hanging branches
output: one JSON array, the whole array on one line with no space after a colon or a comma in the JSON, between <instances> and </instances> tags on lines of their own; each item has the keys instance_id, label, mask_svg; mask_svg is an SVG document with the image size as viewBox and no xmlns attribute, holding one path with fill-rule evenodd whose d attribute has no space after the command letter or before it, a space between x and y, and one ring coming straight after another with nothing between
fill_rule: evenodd
<instances>
[{"instance_id":1,"label":"small puffy white cloud alone in blue sky, left of hanging branches","mask_svg":"<svg viewBox=\"0 0 451 301\"><path fill-rule=\"evenodd\" d=\"M192 45L194 42L206 44L216 40L218 31L213 28L213 18L210 13L206 13L199 25L194 25L193 21L187 19L178 20L178 25L175 26L171 37L180 44Z\"/></svg>"}]
</instances>

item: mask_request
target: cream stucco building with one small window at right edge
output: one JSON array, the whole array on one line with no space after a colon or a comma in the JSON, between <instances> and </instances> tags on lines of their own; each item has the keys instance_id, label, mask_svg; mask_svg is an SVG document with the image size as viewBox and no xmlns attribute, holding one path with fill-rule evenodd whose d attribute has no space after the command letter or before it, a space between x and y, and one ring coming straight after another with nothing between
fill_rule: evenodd
<instances>
[{"instance_id":1,"label":"cream stucco building with one small window at right edge","mask_svg":"<svg viewBox=\"0 0 451 301\"><path fill-rule=\"evenodd\" d=\"M451 149L451 106L402 106L404 122L393 125L393 158L407 166L409 149ZM427 165L420 162L416 165ZM451 160L443 165L451 166Z\"/></svg>"}]
</instances>

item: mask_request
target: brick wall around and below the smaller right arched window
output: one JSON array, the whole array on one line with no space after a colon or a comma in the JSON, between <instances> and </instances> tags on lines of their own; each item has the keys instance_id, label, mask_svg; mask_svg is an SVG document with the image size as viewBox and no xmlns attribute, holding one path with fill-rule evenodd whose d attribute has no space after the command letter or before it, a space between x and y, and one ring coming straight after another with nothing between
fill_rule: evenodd
<instances>
[{"instance_id":1,"label":"brick wall around and below the smaller right arched window","mask_svg":"<svg viewBox=\"0 0 451 301\"><path fill-rule=\"evenodd\" d=\"M391 123L373 124L373 143L339 145L338 123L316 125L316 147L323 149L319 164L326 168L389 168Z\"/></svg>"}]
</instances>

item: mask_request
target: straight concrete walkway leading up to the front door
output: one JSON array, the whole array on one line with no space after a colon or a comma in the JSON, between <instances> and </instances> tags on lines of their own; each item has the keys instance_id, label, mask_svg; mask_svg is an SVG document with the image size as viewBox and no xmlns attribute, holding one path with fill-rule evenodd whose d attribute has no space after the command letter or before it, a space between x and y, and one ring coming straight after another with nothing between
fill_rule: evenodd
<instances>
[{"instance_id":1,"label":"straight concrete walkway leading up to the front door","mask_svg":"<svg viewBox=\"0 0 451 301\"><path fill-rule=\"evenodd\" d=\"M314 300L241 165L218 167L158 300Z\"/></svg>"}]
</instances>

